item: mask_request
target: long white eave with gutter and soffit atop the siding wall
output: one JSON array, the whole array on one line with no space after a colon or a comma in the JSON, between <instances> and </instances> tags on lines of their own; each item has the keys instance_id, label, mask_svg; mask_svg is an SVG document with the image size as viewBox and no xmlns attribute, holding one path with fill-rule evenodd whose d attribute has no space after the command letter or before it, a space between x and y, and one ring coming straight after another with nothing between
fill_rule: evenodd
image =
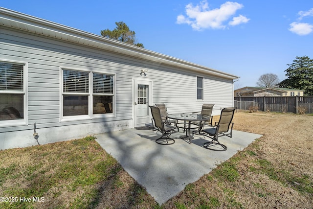
<instances>
[{"instance_id":1,"label":"long white eave with gutter and soffit atop the siding wall","mask_svg":"<svg viewBox=\"0 0 313 209\"><path fill-rule=\"evenodd\" d=\"M0 7L0 25L65 40L67 42L73 42L80 45L109 50L119 54L125 54L128 56L162 63L185 70L198 71L227 79L239 78L236 75L207 68L175 57L160 54L151 50L140 48L138 46L125 44L120 41L95 35L59 23L46 21L44 19L26 15L3 7Z\"/></svg>"}]
</instances>

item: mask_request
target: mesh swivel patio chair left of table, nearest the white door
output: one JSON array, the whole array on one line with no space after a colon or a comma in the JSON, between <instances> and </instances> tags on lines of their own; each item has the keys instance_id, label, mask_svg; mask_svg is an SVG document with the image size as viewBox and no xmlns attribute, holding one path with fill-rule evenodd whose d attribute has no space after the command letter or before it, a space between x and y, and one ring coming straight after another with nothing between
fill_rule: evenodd
<instances>
[{"instance_id":1,"label":"mesh swivel patio chair left of table, nearest the white door","mask_svg":"<svg viewBox=\"0 0 313 209\"><path fill-rule=\"evenodd\" d=\"M154 124L157 130L159 130L162 133L162 136L156 139L156 143L163 145L174 144L175 140L171 139L170 136L174 132L174 129L177 129L177 127L167 124L167 122L164 121L164 119L162 119L161 112L158 107L155 106L149 107L151 109Z\"/></svg>"}]
</instances>

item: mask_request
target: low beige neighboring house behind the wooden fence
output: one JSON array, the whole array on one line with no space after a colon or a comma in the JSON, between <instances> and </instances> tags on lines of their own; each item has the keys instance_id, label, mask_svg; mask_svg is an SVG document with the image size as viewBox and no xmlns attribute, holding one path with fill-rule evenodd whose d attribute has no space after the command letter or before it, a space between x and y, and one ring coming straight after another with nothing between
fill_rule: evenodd
<instances>
[{"instance_id":1,"label":"low beige neighboring house behind the wooden fence","mask_svg":"<svg viewBox=\"0 0 313 209\"><path fill-rule=\"evenodd\" d=\"M234 91L235 96L303 96L303 90L286 88L244 87Z\"/></svg>"}]
</instances>

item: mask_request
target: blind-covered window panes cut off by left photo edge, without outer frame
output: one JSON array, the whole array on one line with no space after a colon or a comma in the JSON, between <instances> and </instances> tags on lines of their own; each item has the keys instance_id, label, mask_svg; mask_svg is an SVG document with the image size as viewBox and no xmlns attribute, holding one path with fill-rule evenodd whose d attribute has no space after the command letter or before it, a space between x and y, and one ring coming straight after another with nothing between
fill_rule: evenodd
<instances>
[{"instance_id":1,"label":"blind-covered window panes cut off by left photo edge, without outer frame","mask_svg":"<svg viewBox=\"0 0 313 209\"><path fill-rule=\"evenodd\" d=\"M24 119L24 66L0 61L0 123Z\"/></svg>"}]
</instances>

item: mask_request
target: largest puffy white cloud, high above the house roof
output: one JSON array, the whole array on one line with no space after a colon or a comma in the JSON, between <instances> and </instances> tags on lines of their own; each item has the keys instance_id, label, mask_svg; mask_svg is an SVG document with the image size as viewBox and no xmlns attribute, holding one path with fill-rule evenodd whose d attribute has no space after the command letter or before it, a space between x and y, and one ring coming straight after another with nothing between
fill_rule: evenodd
<instances>
[{"instance_id":1,"label":"largest puffy white cloud, high above the house roof","mask_svg":"<svg viewBox=\"0 0 313 209\"><path fill-rule=\"evenodd\" d=\"M190 3L185 7L186 16L179 15L176 23L186 23L191 25L191 27L195 30L202 30L206 28L224 29L226 27L225 22L234 16L237 10L243 7L243 4L231 1L225 2L220 8L216 9L210 9L206 0L201 1L196 6ZM239 17L233 18L233 20L228 24L237 25L247 23L248 21L248 18L240 15Z\"/></svg>"}]
</instances>

